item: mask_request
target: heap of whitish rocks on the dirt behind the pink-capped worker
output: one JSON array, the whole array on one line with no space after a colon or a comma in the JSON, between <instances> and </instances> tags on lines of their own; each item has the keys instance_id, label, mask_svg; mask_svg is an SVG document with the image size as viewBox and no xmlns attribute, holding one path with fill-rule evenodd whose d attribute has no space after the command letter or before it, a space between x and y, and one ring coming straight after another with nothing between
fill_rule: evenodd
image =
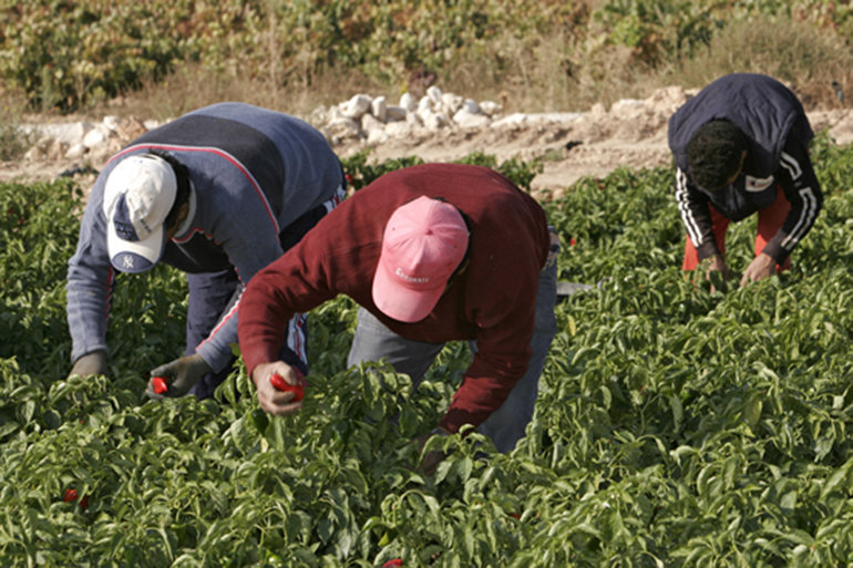
<instances>
[{"instance_id":1,"label":"heap of whitish rocks on the dirt behind the pink-capped worker","mask_svg":"<svg viewBox=\"0 0 853 568\"><path fill-rule=\"evenodd\" d=\"M332 146L349 138L382 144L391 137L408 137L417 130L482 128L502 117L503 106L494 101L476 102L431 86L420 101L410 93L400 104L388 104L386 96L357 94L349 101L317 109L310 122Z\"/></svg>"}]
</instances>

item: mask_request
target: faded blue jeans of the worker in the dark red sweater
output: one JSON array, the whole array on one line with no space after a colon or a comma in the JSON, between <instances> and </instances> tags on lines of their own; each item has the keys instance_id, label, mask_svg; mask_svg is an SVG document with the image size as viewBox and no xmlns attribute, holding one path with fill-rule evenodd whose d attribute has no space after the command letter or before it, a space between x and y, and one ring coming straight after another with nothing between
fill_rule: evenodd
<instances>
[{"instance_id":1,"label":"faded blue jeans of the worker in the dark red sweater","mask_svg":"<svg viewBox=\"0 0 853 568\"><path fill-rule=\"evenodd\" d=\"M554 316L556 299L557 266L553 262L539 272L539 285L536 291L536 327L531 340L533 354L527 372L515 383L503 405L477 427L477 432L492 440L499 452L507 453L514 450L518 440L524 437L525 428L533 419L539 375L545 366L551 342L557 332L557 321ZM471 341L469 344L475 353L476 341ZM426 343L400 337L361 308L347 363L352 366L364 361L379 361L387 358L398 373L411 376L417 389L443 348L444 343Z\"/></svg>"}]
</instances>

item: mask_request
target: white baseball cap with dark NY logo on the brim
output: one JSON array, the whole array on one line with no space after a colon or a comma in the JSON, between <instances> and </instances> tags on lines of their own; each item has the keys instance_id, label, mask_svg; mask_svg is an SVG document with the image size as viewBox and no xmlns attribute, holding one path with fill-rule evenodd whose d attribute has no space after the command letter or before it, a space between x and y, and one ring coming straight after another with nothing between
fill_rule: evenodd
<instances>
[{"instance_id":1,"label":"white baseball cap with dark NY logo on the brim","mask_svg":"<svg viewBox=\"0 0 853 568\"><path fill-rule=\"evenodd\" d=\"M106 178L104 215L110 262L122 272L144 272L163 258L166 216L175 204L177 177L160 156L137 154Z\"/></svg>"}]
</instances>

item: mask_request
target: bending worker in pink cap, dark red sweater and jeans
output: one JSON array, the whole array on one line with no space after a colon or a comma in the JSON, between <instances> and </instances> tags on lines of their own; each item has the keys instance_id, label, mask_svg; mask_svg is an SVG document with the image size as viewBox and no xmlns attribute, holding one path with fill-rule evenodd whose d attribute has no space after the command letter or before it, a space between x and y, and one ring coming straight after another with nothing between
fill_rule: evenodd
<instances>
[{"instance_id":1,"label":"bending worker in pink cap, dark red sweater and jeans","mask_svg":"<svg viewBox=\"0 0 853 568\"><path fill-rule=\"evenodd\" d=\"M299 410L270 385L274 373L297 379L277 345L295 313L346 293L361 306L350 365L388 358L417 385L444 342L470 340L473 362L433 433L472 424L499 451L513 450L556 333L558 250L538 203L489 168L426 164L383 175L246 288L240 348L260 406Z\"/></svg>"}]
</instances>

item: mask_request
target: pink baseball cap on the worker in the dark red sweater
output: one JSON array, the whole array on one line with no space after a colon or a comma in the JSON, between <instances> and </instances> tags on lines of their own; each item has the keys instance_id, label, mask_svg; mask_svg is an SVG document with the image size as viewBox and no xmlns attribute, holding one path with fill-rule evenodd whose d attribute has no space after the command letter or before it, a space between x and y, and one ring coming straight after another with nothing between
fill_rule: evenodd
<instances>
[{"instance_id":1,"label":"pink baseball cap on the worker in the dark red sweater","mask_svg":"<svg viewBox=\"0 0 853 568\"><path fill-rule=\"evenodd\" d=\"M373 278L377 308L405 323L429 316L462 262L467 239L465 220L450 204L419 197L398 207Z\"/></svg>"}]
</instances>

